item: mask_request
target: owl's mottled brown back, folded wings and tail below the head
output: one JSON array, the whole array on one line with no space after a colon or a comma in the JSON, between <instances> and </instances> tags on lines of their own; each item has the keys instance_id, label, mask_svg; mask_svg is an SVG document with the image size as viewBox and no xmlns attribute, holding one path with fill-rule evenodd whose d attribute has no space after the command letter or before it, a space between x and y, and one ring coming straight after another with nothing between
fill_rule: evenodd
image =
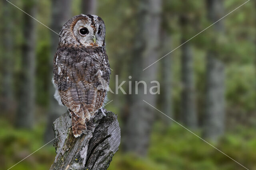
<instances>
[{"instance_id":1,"label":"owl's mottled brown back, folded wings and tail below the head","mask_svg":"<svg viewBox=\"0 0 256 170\"><path fill-rule=\"evenodd\" d=\"M73 121L79 122L72 128L74 135L80 136L85 123L102 107L108 91L109 67L103 47L82 50L61 47L57 50L54 57L54 83L62 103L73 114L72 125Z\"/></svg>"}]
</instances>

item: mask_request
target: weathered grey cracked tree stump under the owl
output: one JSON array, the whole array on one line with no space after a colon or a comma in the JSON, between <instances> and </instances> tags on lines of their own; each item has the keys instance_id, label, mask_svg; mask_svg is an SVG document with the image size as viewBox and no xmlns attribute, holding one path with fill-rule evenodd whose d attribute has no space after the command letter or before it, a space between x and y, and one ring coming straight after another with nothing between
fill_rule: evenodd
<instances>
[{"instance_id":1,"label":"weathered grey cracked tree stump under the owl","mask_svg":"<svg viewBox=\"0 0 256 170\"><path fill-rule=\"evenodd\" d=\"M70 127L68 112L53 123L57 155L50 170L107 169L120 145L117 115L107 111L105 117L98 111L88 123L88 130L78 138L74 137Z\"/></svg>"}]
</instances>

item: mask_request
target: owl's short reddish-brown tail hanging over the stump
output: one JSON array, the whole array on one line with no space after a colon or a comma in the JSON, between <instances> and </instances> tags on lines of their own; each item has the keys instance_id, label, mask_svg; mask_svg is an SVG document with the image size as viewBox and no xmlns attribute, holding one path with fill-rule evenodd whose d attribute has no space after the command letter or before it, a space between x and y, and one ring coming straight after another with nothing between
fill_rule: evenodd
<instances>
[{"instance_id":1,"label":"owl's short reddish-brown tail hanging over the stump","mask_svg":"<svg viewBox=\"0 0 256 170\"><path fill-rule=\"evenodd\" d=\"M87 129L86 120L84 118L78 117L74 111L70 110L72 119L72 132L74 137L80 137L84 130Z\"/></svg>"}]
</instances>

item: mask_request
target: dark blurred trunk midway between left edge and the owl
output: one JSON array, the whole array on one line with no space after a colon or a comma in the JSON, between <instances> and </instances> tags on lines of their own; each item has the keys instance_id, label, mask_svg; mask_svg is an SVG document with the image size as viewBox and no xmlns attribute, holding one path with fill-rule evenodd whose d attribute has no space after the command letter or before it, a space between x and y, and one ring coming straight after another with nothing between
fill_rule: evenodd
<instances>
[{"instance_id":1,"label":"dark blurred trunk midway between left edge and the owl","mask_svg":"<svg viewBox=\"0 0 256 170\"><path fill-rule=\"evenodd\" d=\"M35 16L36 4L34 0L24 2L24 11ZM22 14L23 19L23 44L20 71L20 84L18 95L18 110L16 125L18 127L31 128L34 122L35 105L35 42L36 21L27 14Z\"/></svg>"}]
</instances>

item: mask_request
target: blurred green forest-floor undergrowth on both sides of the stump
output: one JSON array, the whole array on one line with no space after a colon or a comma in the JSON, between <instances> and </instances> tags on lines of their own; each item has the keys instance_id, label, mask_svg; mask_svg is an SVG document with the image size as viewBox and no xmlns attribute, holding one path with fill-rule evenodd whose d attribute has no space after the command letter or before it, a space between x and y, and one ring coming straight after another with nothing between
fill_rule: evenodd
<instances>
[{"instance_id":1,"label":"blurred green forest-floor undergrowth on both sides of the stump","mask_svg":"<svg viewBox=\"0 0 256 170\"><path fill-rule=\"evenodd\" d=\"M171 120L170 120L171 121ZM8 169L24 157L44 145L44 125L40 124L32 131L17 130L8 121L0 120L0 169ZM6 129L8 129L6 131ZM195 132L200 136L200 132ZM256 137L254 129L237 127L213 145L234 158L249 169L256 165ZM17 152L18 151L18 152ZM55 149L47 145L14 169L49 169L54 161ZM132 153L124 154L120 149L113 157L109 170L233 170L243 169L239 164L214 149L186 129L174 124L166 127L158 122L154 125L150 149L145 158Z\"/></svg>"}]
</instances>

